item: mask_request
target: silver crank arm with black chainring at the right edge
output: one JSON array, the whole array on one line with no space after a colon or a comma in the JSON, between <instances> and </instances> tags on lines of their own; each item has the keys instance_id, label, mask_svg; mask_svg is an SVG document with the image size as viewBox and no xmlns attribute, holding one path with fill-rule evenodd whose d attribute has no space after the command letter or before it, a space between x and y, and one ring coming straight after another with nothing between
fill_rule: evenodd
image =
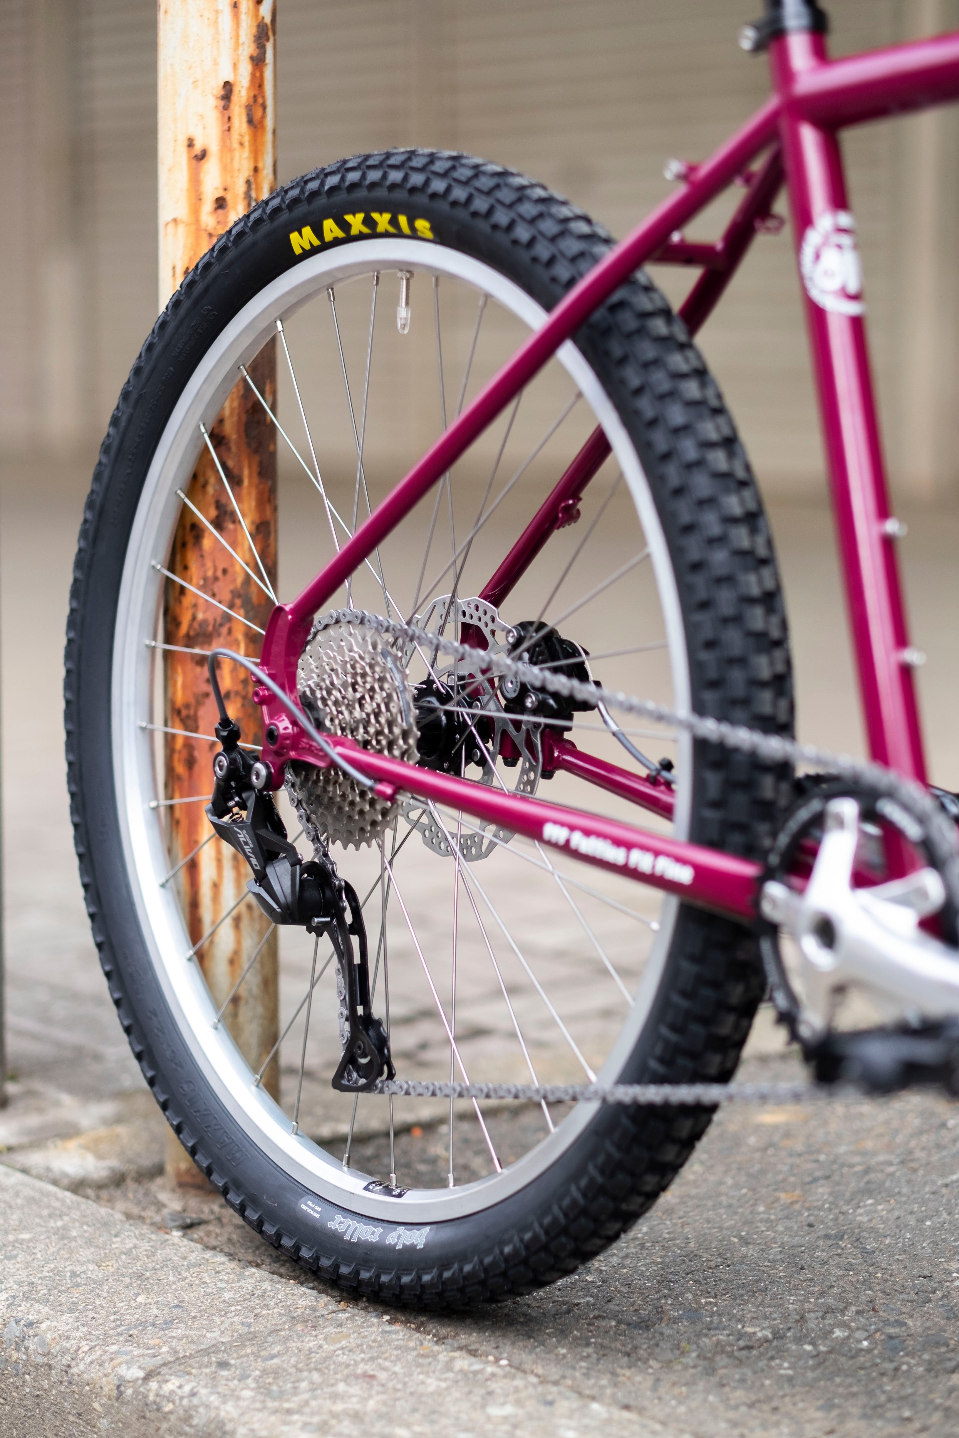
<instances>
[{"instance_id":1,"label":"silver crank arm with black chainring at the right edge","mask_svg":"<svg viewBox=\"0 0 959 1438\"><path fill-rule=\"evenodd\" d=\"M919 860L887 877L887 847ZM786 817L761 889L772 1001L822 1083L959 1093L959 949L937 835L889 795L815 784ZM939 933L923 922L936 916ZM878 1027L847 1027L877 1012Z\"/></svg>"}]
</instances>

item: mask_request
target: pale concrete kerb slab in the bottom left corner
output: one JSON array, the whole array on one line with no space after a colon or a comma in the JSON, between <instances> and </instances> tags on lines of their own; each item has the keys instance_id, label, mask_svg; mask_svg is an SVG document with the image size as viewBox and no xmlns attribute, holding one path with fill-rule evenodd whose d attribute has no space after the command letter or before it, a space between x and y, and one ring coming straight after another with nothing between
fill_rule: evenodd
<instances>
[{"instance_id":1,"label":"pale concrete kerb slab in the bottom left corner","mask_svg":"<svg viewBox=\"0 0 959 1438\"><path fill-rule=\"evenodd\" d=\"M0 1168L4 1438L667 1429Z\"/></svg>"}]
</instances>

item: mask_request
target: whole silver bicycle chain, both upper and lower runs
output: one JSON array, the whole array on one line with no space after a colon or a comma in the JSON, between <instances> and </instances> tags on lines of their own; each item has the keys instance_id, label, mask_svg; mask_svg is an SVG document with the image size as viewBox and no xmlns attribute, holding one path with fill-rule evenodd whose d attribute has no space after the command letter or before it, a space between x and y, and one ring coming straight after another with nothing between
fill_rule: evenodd
<instances>
[{"instance_id":1,"label":"whole silver bicycle chain, both upper and lower runs","mask_svg":"<svg viewBox=\"0 0 959 1438\"><path fill-rule=\"evenodd\" d=\"M709 719L696 713L680 713L650 699L637 699L602 684L584 683L536 664L512 659L503 653L489 653L431 634L417 624L388 620L367 610L335 610L322 617L324 624L358 624L393 638L414 643L423 650L441 650L457 663L469 663L479 679L515 677L531 689L546 689L564 699L604 703L607 709L634 715L653 723L671 725L693 739L717 743L740 754L752 754L771 764L807 764L840 778L855 781L896 801L917 825L917 837L930 837L943 856L942 877L952 903L959 909L959 843L956 825L942 805L914 779L906 779L886 765L854 759L845 754L831 754L815 745L799 743L782 735L763 733L726 719ZM531 1103L612 1103L612 1104L683 1104L715 1107L729 1102L797 1102L817 1090L808 1084L456 1084L420 1080L381 1080L375 1093L414 1099L509 1099Z\"/></svg>"}]
</instances>

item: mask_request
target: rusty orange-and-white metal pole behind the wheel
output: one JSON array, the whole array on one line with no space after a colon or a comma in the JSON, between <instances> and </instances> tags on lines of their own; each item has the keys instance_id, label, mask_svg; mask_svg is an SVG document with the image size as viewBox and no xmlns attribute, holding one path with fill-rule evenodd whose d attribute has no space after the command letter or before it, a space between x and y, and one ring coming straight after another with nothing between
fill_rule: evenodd
<instances>
[{"instance_id":1,"label":"rusty orange-and-white metal pole behind the wheel","mask_svg":"<svg viewBox=\"0 0 959 1438\"><path fill-rule=\"evenodd\" d=\"M158 4L158 158L160 158L160 303L167 303L184 275L230 224L276 186L276 0L160 0ZM262 394L275 404L276 364L272 344L250 367ZM276 444L260 403L243 383L229 395L210 431L217 460L230 483L259 558L276 587ZM190 482L188 498L242 555L256 562L210 453ZM226 562L224 562L226 559ZM243 614L260 628L269 597L236 565L210 532L184 508L170 568L194 588ZM256 634L183 585L168 581L165 640L185 649L214 646L254 654ZM239 666L223 664L220 682L243 739L260 738L260 710ZM165 653L165 706L171 729L211 733L217 719L206 660ZM167 736L167 797L208 794L216 745ZM174 863L206 838L201 804L171 805L170 850ZM214 841L181 871L181 902L197 943L239 899L249 879L243 860ZM220 1007L267 932L252 900L197 952L213 1001ZM253 1068L277 1037L279 979L273 933L249 978L231 999L224 1022ZM279 1097L276 1060L263 1076ZM204 1188L206 1178L170 1135L167 1179L178 1188Z\"/></svg>"}]
</instances>

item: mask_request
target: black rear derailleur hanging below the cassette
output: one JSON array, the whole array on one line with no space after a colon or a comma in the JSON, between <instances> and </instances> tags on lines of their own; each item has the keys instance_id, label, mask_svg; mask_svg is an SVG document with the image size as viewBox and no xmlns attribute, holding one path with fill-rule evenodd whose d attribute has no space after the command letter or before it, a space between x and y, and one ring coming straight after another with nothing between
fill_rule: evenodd
<instances>
[{"instance_id":1,"label":"black rear derailleur hanging below the cassette","mask_svg":"<svg viewBox=\"0 0 959 1438\"><path fill-rule=\"evenodd\" d=\"M233 719L220 722L216 736L221 749L213 761L207 818L253 870L246 887L267 919L303 925L308 933L329 938L338 965L342 1045L332 1086L344 1093L367 1093L378 1078L394 1078L395 1070L387 1031L370 1005L367 929L357 892L339 877L322 844L313 844L318 857L308 861L290 844L266 788L269 771L240 748L239 725Z\"/></svg>"}]
</instances>

